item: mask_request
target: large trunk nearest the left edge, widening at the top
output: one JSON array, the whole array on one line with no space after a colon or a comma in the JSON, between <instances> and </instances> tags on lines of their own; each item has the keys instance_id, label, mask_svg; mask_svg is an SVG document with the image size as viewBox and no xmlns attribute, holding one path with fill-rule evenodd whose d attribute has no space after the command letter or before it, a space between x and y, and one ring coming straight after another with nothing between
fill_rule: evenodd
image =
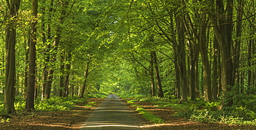
<instances>
[{"instance_id":1,"label":"large trunk nearest the left edge, widening at the top","mask_svg":"<svg viewBox=\"0 0 256 130\"><path fill-rule=\"evenodd\" d=\"M4 90L4 108L8 113L15 112L15 18L20 6L20 0L6 1L8 6L8 23L6 25L6 86Z\"/></svg>"}]
</instances>

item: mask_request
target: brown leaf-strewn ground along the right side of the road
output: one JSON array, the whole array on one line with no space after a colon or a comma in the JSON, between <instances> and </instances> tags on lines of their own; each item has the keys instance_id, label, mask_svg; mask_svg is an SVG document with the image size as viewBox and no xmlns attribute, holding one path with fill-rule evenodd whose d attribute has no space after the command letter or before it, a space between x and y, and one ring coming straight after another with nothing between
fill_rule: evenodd
<instances>
[{"instance_id":1,"label":"brown leaf-strewn ground along the right side of the road","mask_svg":"<svg viewBox=\"0 0 256 130\"><path fill-rule=\"evenodd\" d=\"M152 122L149 122L147 120L143 120L140 122L140 129L143 130L155 130L155 129L161 129L161 130L170 130L170 129L256 129L256 126L249 126L249 125L230 125L230 124L223 124L223 123L200 123L200 122L192 122L189 120L185 120L182 118L179 118L174 115L175 110L170 107L164 107L164 108L158 108L156 107L157 104L152 104L150 102L136 102L134 104L140 105L140 107L143 107L143 109L146 109L147 111L153 113L154 115L157 115L159 118L163 119L165 121L164 124L154 124ZM137 106L129 106L129 109L135 110ZM142 118L140 114L136 115L137 118Z\"/></svg>"}]
</instances>

